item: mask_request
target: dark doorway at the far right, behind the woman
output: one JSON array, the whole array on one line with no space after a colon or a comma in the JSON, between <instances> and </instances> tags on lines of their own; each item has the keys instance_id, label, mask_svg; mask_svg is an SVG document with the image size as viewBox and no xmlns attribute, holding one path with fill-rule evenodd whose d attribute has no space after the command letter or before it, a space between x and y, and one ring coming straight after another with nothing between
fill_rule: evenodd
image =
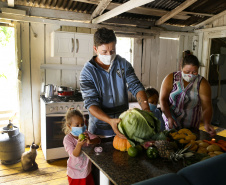
<instances>
[{"instance_id":1,"label":"dark doorway at the far right, behind the woman","mask_svg":"<svg viewBox=\"0 0 226 185\"><path fill-rule=\"evenodd\" d=\"M208 81L212 91L212 124L226 128L226 38L212 38Z\"/></svg>"}]
</instances>

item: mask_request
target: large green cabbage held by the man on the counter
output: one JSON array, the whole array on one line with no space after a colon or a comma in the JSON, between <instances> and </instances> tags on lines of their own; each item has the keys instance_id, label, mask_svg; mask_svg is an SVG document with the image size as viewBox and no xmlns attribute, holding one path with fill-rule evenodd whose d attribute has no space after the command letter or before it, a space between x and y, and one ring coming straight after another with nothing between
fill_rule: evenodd
<instances>
[{"instance_id":1,"label":"large green cabbage held by the man on the counter","mask_svg":"<svg viewBox=\"0 0 226 185\"><path fill-rule=\"evenodd\" d=\"M160 132L160 121L151 112L134 108L123 112L119 118L118 129L132 146L150 141Z\"/></svg>"}]
</instances>

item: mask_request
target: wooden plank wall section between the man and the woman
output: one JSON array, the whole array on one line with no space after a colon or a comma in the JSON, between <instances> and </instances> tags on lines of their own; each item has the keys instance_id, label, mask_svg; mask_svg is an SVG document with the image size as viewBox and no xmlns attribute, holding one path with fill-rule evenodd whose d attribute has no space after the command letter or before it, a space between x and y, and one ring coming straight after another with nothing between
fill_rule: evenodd
<instances>
[{"instance_id":1,"label":"wooden plank wall section between the man and the woman","mask_svg":"<svg viewBox=\"0 0 226 185\"><path fill-rule=\"evenodd\" d=\"M177 38L162 39L161 37ZM141 81L145 87L160 91L166 75L180 70L179 63L184 50L192 50L193 35L161 33L143 41Z\"/></svg>"}]
</instances>

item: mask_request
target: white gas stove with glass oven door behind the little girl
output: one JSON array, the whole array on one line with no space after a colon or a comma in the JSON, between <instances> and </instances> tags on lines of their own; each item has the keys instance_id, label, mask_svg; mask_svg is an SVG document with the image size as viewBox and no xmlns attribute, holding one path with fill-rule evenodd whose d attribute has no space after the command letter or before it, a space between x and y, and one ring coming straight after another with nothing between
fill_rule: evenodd
<instances>
[{"instance_id":1,"label":"white gas stove with glass oven door behind the little girl","mask_svg":"<svg viewBox=\"0 0 226 185\"><path fill-rule=\"evenodd\" d=\"M41 147L47 161L68 157L63 146L65 134L62 131L64 117L69 108L80 110L85 116L81 93L74 96L40 96L41 104Z\"/></svg>"}]
</instances>

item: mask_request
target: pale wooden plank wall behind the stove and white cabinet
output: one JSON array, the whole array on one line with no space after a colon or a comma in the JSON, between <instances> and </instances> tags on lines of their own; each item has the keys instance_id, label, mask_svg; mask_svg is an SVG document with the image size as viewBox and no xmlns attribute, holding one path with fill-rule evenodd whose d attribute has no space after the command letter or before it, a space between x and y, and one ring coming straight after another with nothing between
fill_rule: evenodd
<instances>
[{"instance_id":1,"label":"pale wooden plank wall behind the stove and white cabinet","mask_svg":"<svg viewBox=\"0 0 226 185\"><path fill-rule=\"evenodd\" d=\"M45 84L79 87L80 71L40 69L41 64L84 64L88 59L51 57L52 31L70 31L93 33L89 28L77 28L41 23L21 23L22 51L22 83L21 97L21 132L24 133L25 144L33 141L40 143L40 94L44 92ZM34 131L34 135L33 135ZM33 139L35 138L35 139Z\"/></svg>"}]
</instances>

